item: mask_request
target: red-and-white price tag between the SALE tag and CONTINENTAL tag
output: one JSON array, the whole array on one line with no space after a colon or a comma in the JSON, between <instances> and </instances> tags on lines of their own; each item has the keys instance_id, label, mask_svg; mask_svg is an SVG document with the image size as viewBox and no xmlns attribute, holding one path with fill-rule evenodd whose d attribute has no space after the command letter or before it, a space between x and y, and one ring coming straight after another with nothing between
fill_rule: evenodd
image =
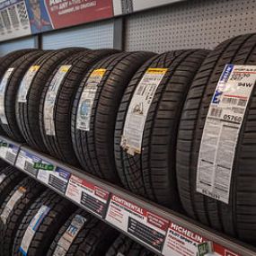
<instances>
[{"instance_id":1,"label":"red-and-white price tag between the SALE tag and CONTINENTAL tag","mask_svg":"<svg viewBox=\"0 0 256 256\"><path fill-rule=\"evenodd\" d=\"M103 217L106 213L110 193L93 183L71 175L66 189L66 197Z\"/></svg>"}]
</instances>

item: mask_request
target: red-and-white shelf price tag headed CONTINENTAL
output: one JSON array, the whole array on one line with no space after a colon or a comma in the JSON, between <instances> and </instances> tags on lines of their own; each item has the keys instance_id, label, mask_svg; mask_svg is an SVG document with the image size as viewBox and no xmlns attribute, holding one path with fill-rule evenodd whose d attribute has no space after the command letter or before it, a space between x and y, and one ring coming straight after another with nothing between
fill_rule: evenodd
<instances>
[{"instance_id":1,"label":"red-and-white shelf price tag headed CONTINENTAL","mask_svg":"<svg viewBox=\"0 0 256 256\"><path fill-rule=\"evenodd\" d=\"M146 243L156 252L162 252L169 224L163 217L112 195L106 220Z\"/></svg>"}]
</instances>

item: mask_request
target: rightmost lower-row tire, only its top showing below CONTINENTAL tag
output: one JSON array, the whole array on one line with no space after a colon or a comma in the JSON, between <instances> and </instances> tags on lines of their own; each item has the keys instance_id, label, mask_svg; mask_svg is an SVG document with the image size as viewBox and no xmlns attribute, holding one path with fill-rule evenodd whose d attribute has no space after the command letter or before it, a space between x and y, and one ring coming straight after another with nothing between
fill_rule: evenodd
<instances>
[{"instance_id":1,"label":"rightmost lower-row tire, only its top showing below CONTINENTAL tag","mask_svg":"<svg viewBox=\"0 0 256 256\"><path fill-rule=\"evenodd\" d=\"M156 256L154 252L146 250L140 244L134 242L128 236L120 234L110 247L105 256Z\"/></svg>"}]
</instances>

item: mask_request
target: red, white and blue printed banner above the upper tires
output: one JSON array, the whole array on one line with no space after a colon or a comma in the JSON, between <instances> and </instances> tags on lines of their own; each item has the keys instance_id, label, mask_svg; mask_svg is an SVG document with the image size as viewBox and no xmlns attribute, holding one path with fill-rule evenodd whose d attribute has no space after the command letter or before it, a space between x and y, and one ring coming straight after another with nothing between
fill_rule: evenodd
<instances>
[{"instance_id":1,"label":"red, white and blue printed banner above the upper tires","mask_svg":"<svg viewBox=\"0 0 256 256\"><path fill-rule=\"evenodd\" d=\"M0 0L0 41L112 16L112 0Z\"/></svg>"}]
</instances>

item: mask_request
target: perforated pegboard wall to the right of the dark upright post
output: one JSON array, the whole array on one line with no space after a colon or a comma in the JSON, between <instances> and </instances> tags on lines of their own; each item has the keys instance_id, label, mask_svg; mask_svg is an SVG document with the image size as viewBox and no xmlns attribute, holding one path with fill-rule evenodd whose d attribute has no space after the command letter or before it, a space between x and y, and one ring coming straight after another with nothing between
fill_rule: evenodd
<instances>
[{"instance_id":1,"label":"perforated pegboard wall to the right of the dark upright post","mask_svg":"<svg viewBox=\"0 0 256 256\"><path fill-rule=\"evenodd\" d=\"M194 0L134 13L126 18L126 49L213 49L256 31L255 6L255 0Z\"/></svg>"}]
</instances>

